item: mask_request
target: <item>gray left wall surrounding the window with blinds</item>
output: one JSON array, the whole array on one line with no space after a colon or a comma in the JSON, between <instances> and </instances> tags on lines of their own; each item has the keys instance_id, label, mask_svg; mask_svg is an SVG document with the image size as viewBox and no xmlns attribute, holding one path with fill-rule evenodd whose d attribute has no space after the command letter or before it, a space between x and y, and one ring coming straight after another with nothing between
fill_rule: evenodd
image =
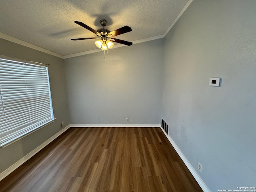
<instances>
[{"instance_id":1,"label":"gray left wall surrounding the window with blinds","mask_svg":"<svg viewBox=\"0 0 256 192\"><path fill-rule=\"evenodd\" d=\"M0 38L0 54L12 58L50 64L48 67L52 105L56 120L36 132L0 148L0 173L61 130L60 123L70 124L66 98L63 59Z\"/></svg>"}]
</instances>

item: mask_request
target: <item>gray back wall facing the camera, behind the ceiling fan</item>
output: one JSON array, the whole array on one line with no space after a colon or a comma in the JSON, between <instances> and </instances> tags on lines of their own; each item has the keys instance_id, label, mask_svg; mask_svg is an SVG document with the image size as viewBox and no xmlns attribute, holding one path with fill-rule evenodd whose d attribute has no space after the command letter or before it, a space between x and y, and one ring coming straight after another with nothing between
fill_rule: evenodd
<instances>
[{"instance_id":1,"label":"gray back wall facing the camera, behind the ceiling fan","mask_svg":"<svg viewBox=\"0 0 256 192\"><path fill-rule=\"evenodd\" d=\"M162 39L64 60L72 124L159 124ZM126 122L126 117L129 122Z\"/></svg>"}]
</instances>

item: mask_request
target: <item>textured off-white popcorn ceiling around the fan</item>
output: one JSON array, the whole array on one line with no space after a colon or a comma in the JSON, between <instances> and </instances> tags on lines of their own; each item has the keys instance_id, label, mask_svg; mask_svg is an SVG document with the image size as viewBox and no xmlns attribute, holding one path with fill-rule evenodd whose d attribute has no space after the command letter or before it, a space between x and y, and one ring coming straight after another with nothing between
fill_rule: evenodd
<instances>
[{"instance_id":1,"label":"textured off-white popcorn ceiling around the fan","mask_svg":"<svg viewBox=\"0 0 256 192\"><path fill-rule=\"evenodd\" d=\"M110 31L130 26L132 32L116 36L138 41L163 35L188 0L0 0L0 32L51 52L67 56L98 49L96 37L74 23ZM116 43L115 43L116 44Z\"/></svg>"}]
</instances>

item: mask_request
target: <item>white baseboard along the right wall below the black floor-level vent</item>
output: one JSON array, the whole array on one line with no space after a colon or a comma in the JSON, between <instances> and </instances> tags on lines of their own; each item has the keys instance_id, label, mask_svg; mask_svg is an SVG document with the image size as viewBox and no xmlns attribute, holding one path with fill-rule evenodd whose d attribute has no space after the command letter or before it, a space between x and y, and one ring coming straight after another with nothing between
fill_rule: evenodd
<instances>
[{"instance_id":1,"label":"white baseboard along the right wall below the black floor-level vent","mask_svg":"<svg viewBox=\"0 0 256 192\"><path fill-rule=\"evenodd\" d=\"M160 126L161 127L161 126ZM178 155L180 156L180 158L182 159L182 161L185 163L185 165L187 166L188 170L191 172L191 174L193 175L193 177L195 178L195 180L198 182L199 186L202 188L202 190L204 192L211 192L210 189L206 186L206 184L204 183L204 181L200 178L200 176L197 174L196 170L194 170L194 168L192 167L192 165L190 164L190 162L187 160L186 156L184 156L184 154L181 152L181 150L178 148L178 146L176 145L176 143L174 142L174 140L172 140L172 138L166 134L166 132L164 131L164 129L161 127L162 131L164 132L165 136L168 138L169 142L172 144L173 148L176 150L176 152L178 153Z\"/></svg>"}]
</instances>

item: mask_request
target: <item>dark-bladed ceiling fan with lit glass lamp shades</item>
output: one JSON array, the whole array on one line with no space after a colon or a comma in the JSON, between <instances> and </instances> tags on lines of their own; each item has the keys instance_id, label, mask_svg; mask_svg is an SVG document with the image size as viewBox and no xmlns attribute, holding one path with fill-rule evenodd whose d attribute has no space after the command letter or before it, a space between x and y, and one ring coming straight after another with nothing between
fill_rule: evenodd
<instances>
[{"instance_id":1,"label":"dark-bladed ceiling fan with lit glass lamp shades","mask_svg":"<svg viewBox=\"0 0 256 192\"><path fill-rule=\"evenodd\" d=\"M117 30L110 31L108 29L105 29L107 21L105 19L102 19L102 20L100 20L100 24L102 26L102 29L94 30L94 29L90 28L88 25L86 25L86 24L84 24L80 21L74 21L74 22L76 24L86 28L87 30L95 33L98 37L71 39L73 41L85 40L85 39L100 39L100 40L96 41L95 44L98 48L101 48L102 50L108 50L108 48L109 49L112 48L113 45L114 45L113 42L117 42L117 43L128 45L128 46L132 45L132 42L112 38L114 36L118 36L120 34L124 34L124 33L132 31L132 28L130 28L129 26L124 26L124 27L121 27Z\"/></svg>"}]
</instances>

